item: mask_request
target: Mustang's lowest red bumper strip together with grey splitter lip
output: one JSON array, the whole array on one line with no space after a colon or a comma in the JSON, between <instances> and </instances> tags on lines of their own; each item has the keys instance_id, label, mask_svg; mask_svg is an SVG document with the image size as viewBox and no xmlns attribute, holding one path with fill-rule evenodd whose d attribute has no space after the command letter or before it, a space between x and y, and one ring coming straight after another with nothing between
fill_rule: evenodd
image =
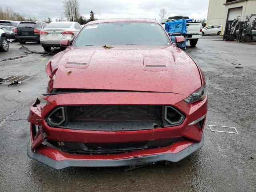
<instances>
[{"instance_id":1,"label":"Mustang's lowest red bumper strip together with grey splitter lip","mask_svg":"<svg viewBox=\"0 0 256 192\"><path fill-rule=\"evenodd\" d=\"M168 161L178 162L189 156L204 145L204 136L201 142L182 140L164 148L164 151L156 153L156 150L145 150L139 156L137 152L116 155L91 155L66 154L60 150L41 146L34 152L31 150L31 142L28 142L27 154L30 158L45 164L51 168L60 170L67 167L118 167L118 166L139 166L152 162ZM126 157L125 157L126 156Z\"/></svg>"}]
</instances>

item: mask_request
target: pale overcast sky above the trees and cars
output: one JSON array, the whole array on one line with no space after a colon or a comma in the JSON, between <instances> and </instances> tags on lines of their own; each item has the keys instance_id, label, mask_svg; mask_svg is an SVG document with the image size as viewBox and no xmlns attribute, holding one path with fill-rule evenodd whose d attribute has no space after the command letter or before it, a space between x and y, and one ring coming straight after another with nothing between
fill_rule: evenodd
<instances>
[{"instance_id":1,"label":"pale overcast sky above the trees and cars","mask_svg":"<svg viewBox=\"0 0 256 192\"><path fill-rule=\"evenodd\" d=\"M168 16L183 15L190 18L207 18L209 0L78 0L80 14L87 19L92 10L98 19L108 18L156 18L161 8ZM62 0L1 0L0 6L11 6L26 18L44 20L60 18L64 12Z\"/></svg>"}]
</instances>

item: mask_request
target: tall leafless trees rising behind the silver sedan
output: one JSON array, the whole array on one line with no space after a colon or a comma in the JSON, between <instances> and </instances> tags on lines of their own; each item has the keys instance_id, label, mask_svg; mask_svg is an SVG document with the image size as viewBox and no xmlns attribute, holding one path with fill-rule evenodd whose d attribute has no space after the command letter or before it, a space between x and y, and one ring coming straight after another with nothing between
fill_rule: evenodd
<instances>
[{"instance_id":1,"label":"tall leafless trees rising behind the silver sedan","mask_svg":"<svg viewBox=\"0 0 256 192\"><path fill-rule=\"evenodd\" d=\"M79 19L79 3L78 0L64 0L64 11L69 21L77 21Z\"/></svg>"}]
</instances>

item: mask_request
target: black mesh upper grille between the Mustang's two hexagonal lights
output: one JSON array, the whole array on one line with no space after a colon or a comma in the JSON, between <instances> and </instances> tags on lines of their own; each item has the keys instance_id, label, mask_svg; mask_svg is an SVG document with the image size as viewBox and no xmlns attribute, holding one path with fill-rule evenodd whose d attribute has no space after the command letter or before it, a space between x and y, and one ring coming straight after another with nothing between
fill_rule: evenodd
<instances>
[{"instance_id":1,"label":"black mesh upper grille between the Mustang's two hexagonal lights","mask_svg":"<svg viewBox=\"0 0 256 192\"><path fill-rule=\"evenodd\" d=\"M68 106L70 122L138 122L161 119L158 105Z\"/></svg>"}]
</instances>

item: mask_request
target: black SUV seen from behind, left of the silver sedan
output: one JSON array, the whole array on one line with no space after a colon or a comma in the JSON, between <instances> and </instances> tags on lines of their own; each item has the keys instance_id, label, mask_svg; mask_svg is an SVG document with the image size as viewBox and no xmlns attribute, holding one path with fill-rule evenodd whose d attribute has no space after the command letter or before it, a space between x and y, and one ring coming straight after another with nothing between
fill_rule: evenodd
<instances>
[{"instance_id":1,"label":"black SUV seen from behind, left of the silver sedan","mask_svg":"<svg viewBox=\"0 0 256 192\"><path fill-rule=\"evenodd\" d=\"M15 38L20 42L20 44L24 44L26 42L40 42L40 30L45 28L46 25L47 24L45 22L20 22L17 26L17 35Z\"/></svg>"}]
</instances>

